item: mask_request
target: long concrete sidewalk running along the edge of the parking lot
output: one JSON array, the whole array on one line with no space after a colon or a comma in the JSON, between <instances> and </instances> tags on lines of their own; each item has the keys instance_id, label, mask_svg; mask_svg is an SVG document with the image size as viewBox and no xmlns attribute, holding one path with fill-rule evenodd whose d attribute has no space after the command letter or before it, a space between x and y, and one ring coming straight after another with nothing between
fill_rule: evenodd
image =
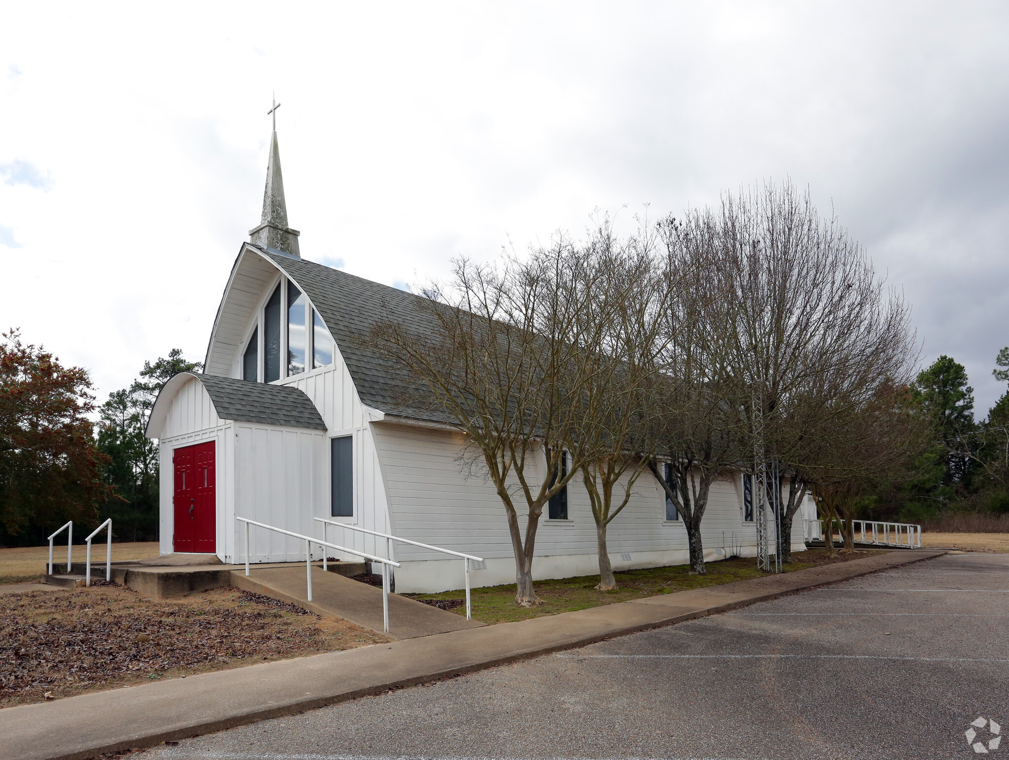
<instances>
[{"instance_id":1,"label":"long concrete sidewalk running along the edge of the parking lot","mask_svg":"<svg viewBox=\"0 0 1009 760\"><path fill-rule=\"evenodd\" d=\"M0 710L4 760L82 760L101 753L292 715L613 636L727 612L756 602L944 552L884 555L141 686Z\"/></svg>"}]
</instances>

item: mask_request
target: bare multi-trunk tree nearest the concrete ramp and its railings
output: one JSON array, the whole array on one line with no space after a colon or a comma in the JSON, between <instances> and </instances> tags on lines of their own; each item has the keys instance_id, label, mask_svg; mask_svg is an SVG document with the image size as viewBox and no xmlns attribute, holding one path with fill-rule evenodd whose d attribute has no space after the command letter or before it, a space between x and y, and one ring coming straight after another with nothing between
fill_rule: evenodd
<instances>
[{"instance_id":1,"label":"bare multi-trunk tree nearest the concrete ramp and its railings","mask_svg":"<svg viewBox=\"0 0 1009 760\"><path fill-rule=\"evenodd\" d=\"M409 369L405 403L464 433L464 463L493 483L523 607L540 604L532 568L544 506L600 453L597 441L572 429L597 363L585 348L592 341L580 335L585 302L565 297L573 251L558 236L526 259L458 259L449 284L422 294L420 319L389 321L370 336Z\"/></svg>"}]
</instances>

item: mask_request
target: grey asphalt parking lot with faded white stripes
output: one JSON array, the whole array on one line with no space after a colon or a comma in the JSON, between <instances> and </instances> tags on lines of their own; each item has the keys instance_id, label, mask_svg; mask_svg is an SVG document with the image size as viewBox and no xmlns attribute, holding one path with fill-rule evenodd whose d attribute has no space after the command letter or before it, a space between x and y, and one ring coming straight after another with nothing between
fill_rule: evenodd
<instances>
[{"instance_id":1,"label":"grey asphalt parking lot with faded white stripes","mask_svg":"<svg viewBox=\"0 0 1009 760\"><path fill-rule=\"evenodd\" d=\"M1009 757L1003 725L1009 555L960 554L146 755Z\"/></svg>"}]
</instances>

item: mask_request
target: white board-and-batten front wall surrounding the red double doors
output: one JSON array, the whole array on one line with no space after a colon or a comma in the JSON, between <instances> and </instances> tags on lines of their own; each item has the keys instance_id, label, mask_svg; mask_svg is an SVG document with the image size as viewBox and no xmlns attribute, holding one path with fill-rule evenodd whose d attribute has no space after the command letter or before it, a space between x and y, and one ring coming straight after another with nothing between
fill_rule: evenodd
<instances>
[{"instance_id":1,"label":"white board-and-batten front wall surrounding the red double doors","mask_svg":"<svg viewBox=\"0 0 1009 760\"><path fill-rule=\"evenodd\" d=\"M158 439L159 554L175 551L175 464L177 448L214 441L214 494L216 499L216 554L224 559L231 536L228 515L234 514L234 434L231 423L221 420L207 390L199 379L186 383L172 400Z\"/></svg>"}]
</instances>

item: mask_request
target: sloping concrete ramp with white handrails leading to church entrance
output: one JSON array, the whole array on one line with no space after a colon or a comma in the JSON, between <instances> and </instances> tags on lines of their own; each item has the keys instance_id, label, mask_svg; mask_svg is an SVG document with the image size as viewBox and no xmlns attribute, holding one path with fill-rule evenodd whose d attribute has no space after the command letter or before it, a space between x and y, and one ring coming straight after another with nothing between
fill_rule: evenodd
<instances>
[{"instance_id":1,"label":"sloping concrete ramp with white handrails leading to church entrance","mask_svg":"<svg viewBox=\"0 0 1009 760\"><path fill-rule=\"evenodd\" d=\"M343 618L362 628L382 633L381 588L345 578L321 567L312 568L312 602L307 599L305 565L296 567L252 567L231 570L231 584L282 602L290 602L316 615ZM388 594L388 635L394 639L479 628L485 625L430 605Z\"/></svg>"}]
</instances>

